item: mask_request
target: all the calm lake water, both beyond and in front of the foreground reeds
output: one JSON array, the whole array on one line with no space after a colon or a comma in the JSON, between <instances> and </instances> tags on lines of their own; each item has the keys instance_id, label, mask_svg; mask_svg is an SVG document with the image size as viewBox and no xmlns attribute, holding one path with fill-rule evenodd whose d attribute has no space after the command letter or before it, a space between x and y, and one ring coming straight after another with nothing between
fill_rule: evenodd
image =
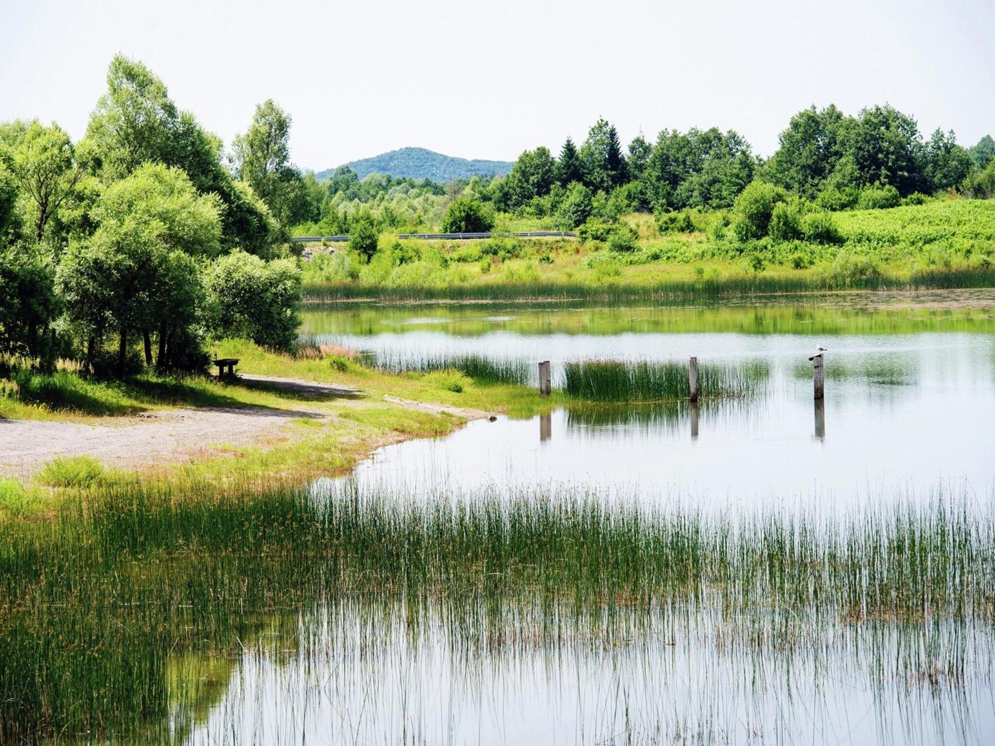
<instances>
[{"instance_id":1,"label":"all the calm lake water, both beyond and in front of the foreground reeds","mask_svg":"<svg viewBox=\"0 0 995 746\"><path fill-rule=\"evenodd\" d=\"M759 360L762 395L671 406L569 407L470 423L377 452L349 483L411 499L598 485L734 515L845 513L947 489L991 507L995 318L846 308L349 308L304 333L379 354ZM810 351L827 353L823 406ZM316 485L330 494L342 482ZM991 743L991 626L730 620L721 599L584 624L524 605L460 618L396 598L302 610L240 641L177 717L195 743ZM454 616L455 615L455 616ZM624 615L623 615L624 616ZM788 617L790 619L790 615ZM602 625L615 630L607 637ZM292 633L287 634L287 629ZM752 630L743 635L743 630ZM619 632L621 630L621 632ZM630 630L626 632L626 630ZM280 640L278 643L267 641ZM956 679L930 676L963 662ZM182 727L179 727L182 726Z\"/></svg>"}]
</instances>

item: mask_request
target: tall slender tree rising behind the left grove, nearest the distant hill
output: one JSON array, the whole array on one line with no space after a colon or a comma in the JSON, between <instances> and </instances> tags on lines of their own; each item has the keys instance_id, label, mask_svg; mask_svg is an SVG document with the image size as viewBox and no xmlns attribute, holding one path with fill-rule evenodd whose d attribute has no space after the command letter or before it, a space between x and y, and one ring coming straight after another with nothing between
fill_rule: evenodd
<instances>
[{"instance_id":1,"label":"tall slender tree rising behind the left grove, nearest the distant hill","mask_svg":"<svg viewBox=\"0 0 995 746\"><path fill-rule=\"evenodd\" d=\"M247 182L284 226L306 211L300 173L291 165L291 123L272 98L258 104L248 131L236 135L230 157L235 177Z\"/></svg>"}]
</instances>

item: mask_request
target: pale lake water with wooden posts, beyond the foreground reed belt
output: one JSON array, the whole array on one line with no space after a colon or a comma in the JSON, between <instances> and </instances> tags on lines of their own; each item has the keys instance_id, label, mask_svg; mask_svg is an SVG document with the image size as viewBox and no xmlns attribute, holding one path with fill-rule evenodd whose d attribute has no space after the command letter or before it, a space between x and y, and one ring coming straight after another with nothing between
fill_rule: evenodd
<instances>
[{"instance_id":1,"label":"pale lake water with wooden posts, beyond the foreground reed belt","mask_svg":"<svg viewBox=\"0 0 995 746\"><path fill-rule=\"evenodd\" d=\"M307 314L305 329L394 357L549 359L554 385L564 360L585 357L697 355L770 370L766 391L744 401L571 406L473 422L446 439L381 450L356 471L364 485L425 494L593 482L720 510L940 488L987 502L995 488L995 319L984 311L417 308L378 318L354 309ZM829 348L822 406L807 360L817 345Z\"/></svg>"}]
</instances>

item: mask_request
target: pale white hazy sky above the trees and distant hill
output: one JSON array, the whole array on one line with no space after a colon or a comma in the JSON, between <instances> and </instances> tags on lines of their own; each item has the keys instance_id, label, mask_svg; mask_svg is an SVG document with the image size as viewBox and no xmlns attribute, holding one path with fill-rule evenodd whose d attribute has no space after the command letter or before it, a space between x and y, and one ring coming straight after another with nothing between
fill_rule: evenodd
<instances>
[{"instance_id":1,"label":"pale white hazy sky above the trees and distant hill","mask_svg":"<svg viewBox=\"0 0 995 746\"><path fill-rule=\"evenodd\" d=\"M511 160L599 115L626 143L717 125L769 155L830 102L970 145L995 134L993 29L995 0L0 0L0 120L81 136L122 52L226 142L275 98L304 168L404 145Z\"/></svg>"}]
</instances>

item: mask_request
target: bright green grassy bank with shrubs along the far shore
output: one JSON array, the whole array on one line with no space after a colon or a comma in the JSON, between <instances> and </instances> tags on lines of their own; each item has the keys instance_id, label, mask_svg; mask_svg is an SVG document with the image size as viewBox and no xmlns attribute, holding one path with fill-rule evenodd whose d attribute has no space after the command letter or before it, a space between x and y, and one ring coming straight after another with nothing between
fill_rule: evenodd
<instances>
[{"instance_id":1,"label":"bright green grassy bank with shrubs along the far shore","mask_svg":"<svg viewBox=\"0 0 995 746\"><path fill-rule=\"evenodd\" d=\"M772 293L995 285L995 201L933 200L827 214L830 238L741 242L729 216L689 213L688 232L650 215L611 241L492 239L398 242L381 238L369 264L348 249L304 264L305 296L602 301L719 301ZM612 229L615 233L622 230Z\"/></svg>"}]
</instances>

